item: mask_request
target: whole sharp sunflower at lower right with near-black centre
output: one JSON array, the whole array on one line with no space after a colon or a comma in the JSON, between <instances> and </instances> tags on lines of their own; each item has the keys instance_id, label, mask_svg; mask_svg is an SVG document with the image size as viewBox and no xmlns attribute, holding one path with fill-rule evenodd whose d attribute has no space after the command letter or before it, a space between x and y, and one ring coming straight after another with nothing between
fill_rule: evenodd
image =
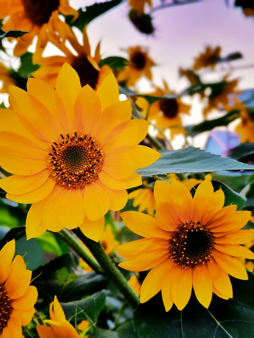
<instances>
[{"instance_id":1,"label":"whole sharp sunflower at lower right with near-black centre","mask_svg":"<svg viewBox=\"0 0 254 338\"><path fill-rule=\"evenodd\" d=\"M175 303L182 310L192 287L198 301L208 308L212 293L233 296L229 274L247 280L245 267L236 257L254 258L253 252L238 245L254 238L253 230L239 230L250 212L223 208L224 193L213 192L206 179L194 198L182 183L156 181L155 217L126 211L121 214L127 227L145 237L120 245L116 250L127 260L119 266L131 271L152 269L146 276L140 300L144 303L161 290L166 311Z\"/></svg>"}]
</instances>

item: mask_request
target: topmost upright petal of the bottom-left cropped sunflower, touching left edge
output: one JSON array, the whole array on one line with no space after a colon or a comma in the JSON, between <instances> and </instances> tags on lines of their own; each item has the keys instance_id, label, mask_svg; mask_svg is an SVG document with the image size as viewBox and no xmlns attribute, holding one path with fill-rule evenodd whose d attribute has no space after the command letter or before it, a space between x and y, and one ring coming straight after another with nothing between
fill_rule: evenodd
<instances>
[{"instance_id":1,"label":"topmost upright petal of the bottom-left cropped sunflower, touching left edge","mask_svg":"<svg viewBox=\"0 0 254 338\"><path fill-rule=\"evenodd\" d=\"M15 253L15 240L6 243L0 251L0 284L3 284L10 273L10 264Z\"/></svg>"}]
</instances>

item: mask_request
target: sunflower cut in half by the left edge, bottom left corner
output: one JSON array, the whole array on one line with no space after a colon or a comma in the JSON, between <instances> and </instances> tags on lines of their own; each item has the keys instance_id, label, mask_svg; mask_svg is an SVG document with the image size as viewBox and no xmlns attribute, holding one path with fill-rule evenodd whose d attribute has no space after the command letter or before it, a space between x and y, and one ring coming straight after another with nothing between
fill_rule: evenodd
<instances>
[{"instance_id":1,"label":"sunflower cut in half by the left edge, bottom left corner","mask_svg":"<svg viewBox=\"0 0 254 338\"><path fill-rule=\"evenodd\" d=\"M22 326L32 320L37 289L30 286L32 271L20 255L14 260L15 240L0 251L0 337L24 338Z\"/></svg>"}]
</instances>

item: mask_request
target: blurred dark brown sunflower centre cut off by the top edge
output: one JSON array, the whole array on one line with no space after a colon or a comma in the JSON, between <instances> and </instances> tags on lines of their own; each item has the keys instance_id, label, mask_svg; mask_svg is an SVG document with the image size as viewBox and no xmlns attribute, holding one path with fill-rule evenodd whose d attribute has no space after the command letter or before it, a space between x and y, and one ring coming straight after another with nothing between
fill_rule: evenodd
<instances>
[{"instance_id":1,"label":"blurred dark brown sunflower centre cut off by the top edge","mask_svg":"<svg viewBox=\"0 0 254 338\"><path fill-rule=\"evenodd\" d=\"M22 0L26 17L36 26L42 27L59 5L59 0Z\"/></svg>"}]
</instances>

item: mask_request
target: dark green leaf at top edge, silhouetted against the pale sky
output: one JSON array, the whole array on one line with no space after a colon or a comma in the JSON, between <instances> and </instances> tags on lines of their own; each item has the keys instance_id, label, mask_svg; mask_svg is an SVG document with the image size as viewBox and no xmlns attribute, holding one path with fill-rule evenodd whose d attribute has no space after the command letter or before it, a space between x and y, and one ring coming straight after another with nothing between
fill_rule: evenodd
<instances>
[{"instance_id":1,"label":"dark green leaf at top edge, silhouetted against the pale sky","mask_svg":"<svg viewBox=\"0 0 254 338\"><path fill-rule=\"evenodd\" d=\"M66 16L66 23L69 26L78 27L81 31L83 31L84 26L97 18L98 16L106 13L109 9L116 7L122 3L123 0L111 0L106 2L94 3L92 6L86 6L85 11L81 8L78 10L79 16L78 18L72 22L73 16Z\"/></svg>"}]
</instances>

